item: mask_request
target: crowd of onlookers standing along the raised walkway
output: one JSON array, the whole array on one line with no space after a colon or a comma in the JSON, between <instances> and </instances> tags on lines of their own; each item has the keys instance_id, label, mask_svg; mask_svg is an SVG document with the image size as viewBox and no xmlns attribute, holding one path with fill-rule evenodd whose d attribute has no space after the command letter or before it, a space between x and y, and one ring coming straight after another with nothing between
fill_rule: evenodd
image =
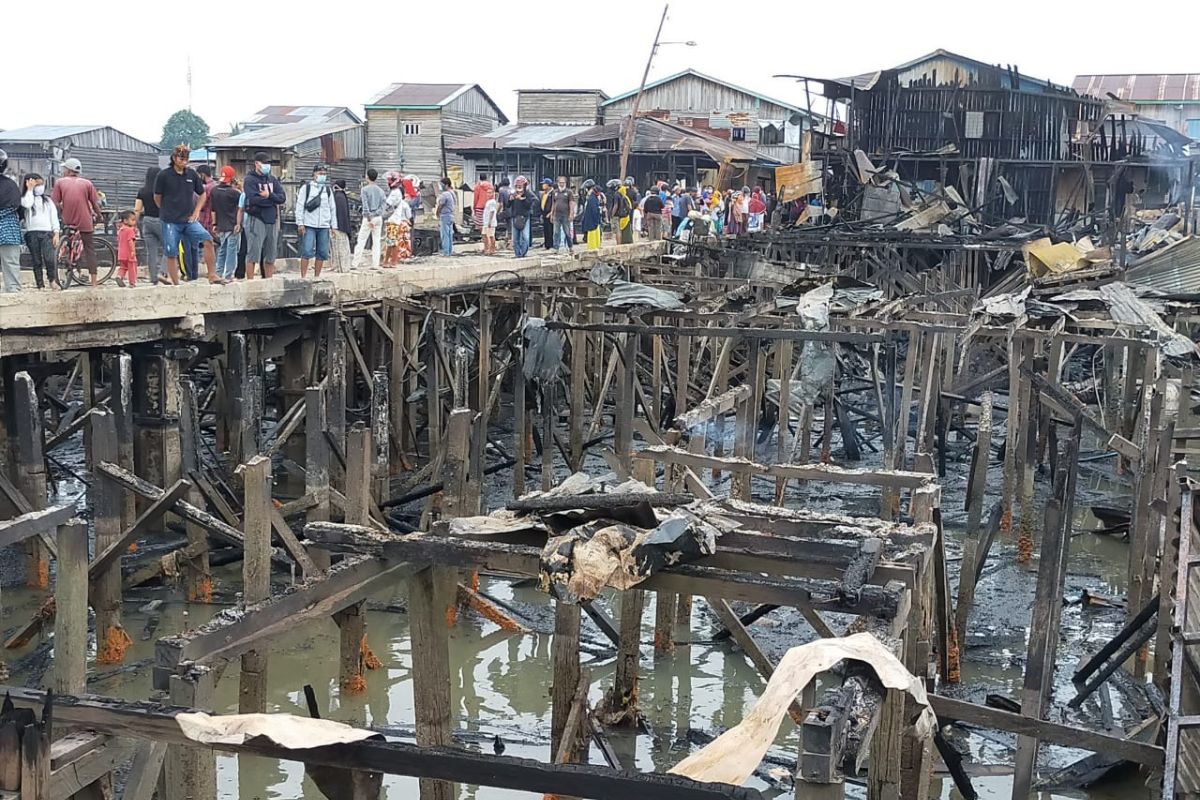
<instances>
[{"instance_id":1,"label":"crowd of onlookers standing along the raised walkway","mask_svg":"<svg viewBox=\"0 0 1200 800\"><path fill-rule=\"evenodd\" d=\"M240 176L226 166L214 178L211 167L193 168L190 160L187 146L174 148L169 166L149 168L133 207L119 212L118 284L138 285L139 240L151 284L178 285L185 279L202 279L202 263L203 279L217 285L240 277L274 276L288 194L272 173L269 155L256 154L252 166L247 164ZM72 264L86 270L95 285L96 223L102 217L103 198L83 176L79 160L62 162L62 174L49 192L42 175L30 173L14 180L6 168L7 156L0 151L4 290L22 289L23 246L30 253L37 288L64 288L58 273L60 231L73 237L77 252ZM310 269L313 276L320 276L326 265L334 271L360 269L368 251L372 267L396 267L412 258L424 185L415 175L396 170L385 173L382 182L383 186L379 174L368 169L358 187L361 221L356 235L346 181L330 181L325 164L316 164L312 174L295 187L292 210L301 277L307 277ZM632 178L612 179L604 185L589 179L574 187L560 175L557 180L542 179L535 188L524 175L511 182L503 178L494 185L481 175L469 192L470 207L460 219L460 193L452 181L443 178L438 188L432 212L444 255L455 252L460 221L478 229L485 255L499 251L498 234L504 230L512 254L524 258L533 246L535 221L541 223L542 248L568 254L581 241L587 248L598 249L605 230L612 231L616 243L686 239L696 231L720 237L755 233L767 224L774 206L761 187L722 192L713 186L656 181L642 191Z\"/></svg>"}]
</instances>

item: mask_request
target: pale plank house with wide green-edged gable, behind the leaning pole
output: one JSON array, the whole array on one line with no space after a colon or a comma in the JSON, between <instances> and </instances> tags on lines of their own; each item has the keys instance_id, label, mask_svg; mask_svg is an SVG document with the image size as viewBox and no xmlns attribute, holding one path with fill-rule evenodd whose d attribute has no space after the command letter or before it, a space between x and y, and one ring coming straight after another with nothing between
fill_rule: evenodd
<instances>
[{"instance_id":1,"label":"pale plank house with wide green-edged gable, behind the leaning pole","mask_svg":"<svg viewBox=\"0 0 1200 800\"><path fill-rule=\"evenodd\" d=\"M600 104L602 121L618 122L634 108L637 88ZM781 163L800 158L802 131L818 120L797 104L774 100L696 70L646 84L638 115L674 122L752 148Z\"/></svg>"}]
</instances>

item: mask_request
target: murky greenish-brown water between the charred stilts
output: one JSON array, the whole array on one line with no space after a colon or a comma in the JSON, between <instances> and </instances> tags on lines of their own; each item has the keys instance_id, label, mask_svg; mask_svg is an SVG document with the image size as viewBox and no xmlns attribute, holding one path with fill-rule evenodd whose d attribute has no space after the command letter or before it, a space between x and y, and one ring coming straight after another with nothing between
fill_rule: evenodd
<instances>
[{"instance_id":1,"label":"murky greenish-brown water between the charred stilts","mask_svg":"<svg viewBox=\"0 0 1200 800\"><path fill-rule=\"evenodd\" d=\"M958 541L961 537L961 493L965 476L954 467L946 481L947 530L950 540L949 557L952 584L958 577ZM506 475L494 476L496 483L509 483ZM998 467L989 475L989 486L1001 486ZM498 488L498 487L497 487ZM64 494L74 494L82 486L66 481ZM1080 501L1076 504L1076 531L1094 527L1086 511L1088 501L1100 498L1111 503L1114 493L1123 487L1109 477L1086 473L1080 477ZM1038 507L1044 504L1046 487L1039 483ZM994 500L989 497L989 503ZM793 498L792 504L809 507L829 507L851 512L874 513L872 499L863 493L846 492L845 487L810 487L805 498ZM1116 505L1115 503L1111 503ZM992 558L985 569L977 606L971 618L971 636L965 644L964 684L949 687L955 696L983 702L984 694L997 692L1014 696L1021 684L1022 666L1027 646L1027 626L1033 601L1037 563L1020 566L1014 563L1015 542L1000 537ZM1124 591L1124 573L1128 549L1124 542L1090 533L1079 533L1072 541L1068 597L1087 589L1120 601ZM239 585L236 566L217 571L218 600L234 602L232 595ZM276 579L281 579L276 576ZM953 585L952 585L953 589ZM529 616L533 627L540 632L512 636L498 630L491 622L478 620L473 614L463 614L460 625L451 632L451 690L455 715L461 734L460 744L481 752L491 752L494 738L499 736L505 754L548 759L550 728L550 676L552 612L545 597L530 588L516 588L508 582L486 581L484 590L511 603ZM142 610L143 603L160 599L164 603L155 612ZM6 589L2 604L5 631L11 630L36 610L42 597L23 589ZM412 650L408 637L408 619L403 613L406 589L397 584L373 597L368 604L368 639L376 655L383 662L382 669L368 673L367 690L359 696L346 696L337 687L337 628L331 620L312 622L301 630L280 638L270 650L269 710L306 715L302 686L312 684L317 691L322 712L329 718L353 724L371 726L390 736L412 741ZM653 601L648 602L653 606ZM204 622L217 608L188 606L176 593L168 589L142 590L126 601L127 628L134 639L127 663L132 669L94 670L89 690L95 693L142 699L151 694L149 660L152 642L158 636L181 631ZM143 630L156 618L157 627L143 639ZM649 625L653 610L647 609L647 628L643 642L649 642ZM1060 669L1056 675L1055 710L1051 718L1075 724L1099 728L1099 711L1096 700L1090 700L1080 711L1064 711L1067 699L1073 696L1069 682L1070 668L1085 652L1093 651L1099 642L1111 637L1123 621L1123 612L1111 608L1068 604L1062 614L1062 638L1060 642ZM836 622L836 620L834 620ZM584 618L582 661L592 670L592 700L596 702L604 687L612 680L612 650L599 632ZM742 656L730 645L713 645L706 642L710 636L710 622L697 604L694 612L691 643L683 642L671 657L653 660L649 649L643 650L643 680L641 705L652 728L650 734L612 732L611 741L622 763L640 770L665 770L684 757L695 745L689 730L719 733L736 724L746 708L755 700L763 681ZM835 625L838 628L838 625ZM781 612L769 615L755 627L756 637L768 652L776 657L787 646L811 638L806 624ZM37 654L31 645L16 655L6 655L13 666L13 681L41 685L46 666L30 657ZM23 658L23 656L25 656ZM217 691L216 711L236 711L238 664L230 664ZM1118 724L1129 726L1141 718L1136 703L1127 703L1123 693L1112 693L1114 715ZM955 744L968 752L971 759L984 766L974 770L974 786L980 796L998 800L1010 796L1012 781L1008 776L1012 764L1014 740L997 732L956 732ZM775 776L782 775L794 764L797 736L792 726L785 726L776 746L768 754L767 763L751 778L750 784L760 788L768 798L792 796L787 787L778 787ZM1061 747L1044 747L1042 769L1066 766L1086 756L1082 751ZM593 747L590 758L602 763ZM986 766L992 765L992 766ZM260 758L236 758L218 756L218 781L222 798L320 798L317 789L304 777L300 764L272 762ZM860 784L848 783L847 796L863 798ZM416 796L416 782L401 777L385 780L385 796L390 800ZM479 800L508 798L536 798L533 793L509 792L491 788L462 787L461 798ZM931 798L959 798L948 778L935 776ZM1088 798L1090 800L1140 800L1150 798L1135 775L1123 781L1109 782L1102 789L1088 792L1040 793L1040 800L1051 798Z\"/></svg>"}]
</instances>

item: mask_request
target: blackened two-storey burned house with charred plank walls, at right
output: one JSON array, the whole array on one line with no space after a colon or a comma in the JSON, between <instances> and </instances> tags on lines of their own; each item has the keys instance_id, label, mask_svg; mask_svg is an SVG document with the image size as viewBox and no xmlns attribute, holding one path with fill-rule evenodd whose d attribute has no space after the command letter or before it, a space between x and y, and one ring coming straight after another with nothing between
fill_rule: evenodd
<instances>
[{"instance_id":1,"label":"blackened two-storey burned house with charred plank walls, at right","mask_svg":"<svg viewBox=\"0 0 1200 800\"><path fill-rule=\"evenodd\" d=\"M821 83L845 108L846 137L818 154L834 176L830 204L844 211L875 164L893 169L901 185L889 187L892 197L866 192L857 212L892 213L901 194L950 186L994 224L1111 221L1126 197L1150 190L1151 201L1170 203L1190 180L1182 134L1109 115L1102 101L1015 67L936 50Z\"/></svg>"}]
</instances>

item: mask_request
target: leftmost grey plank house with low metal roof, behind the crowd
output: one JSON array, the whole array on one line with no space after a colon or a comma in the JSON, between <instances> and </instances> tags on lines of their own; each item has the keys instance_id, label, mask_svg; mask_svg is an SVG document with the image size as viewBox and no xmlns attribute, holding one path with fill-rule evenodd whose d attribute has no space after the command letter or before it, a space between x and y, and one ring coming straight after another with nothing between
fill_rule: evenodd
<instances>
[{"instance_id":1,"label":"leftmost grey plank house with low metal roof, behind the crowd","mask_svg":"<svg viewBox=\"0 0 1200 800\"><path fill-rule=\"evenodd\" d=\"M110 210L132 209L148 167L161 167L161 150L104 125L34 125L0 132L0 149L17 174L37 173L49 182L62 162L78 158L83 175L104 193Z\"/></svg>"}]
</instances>

